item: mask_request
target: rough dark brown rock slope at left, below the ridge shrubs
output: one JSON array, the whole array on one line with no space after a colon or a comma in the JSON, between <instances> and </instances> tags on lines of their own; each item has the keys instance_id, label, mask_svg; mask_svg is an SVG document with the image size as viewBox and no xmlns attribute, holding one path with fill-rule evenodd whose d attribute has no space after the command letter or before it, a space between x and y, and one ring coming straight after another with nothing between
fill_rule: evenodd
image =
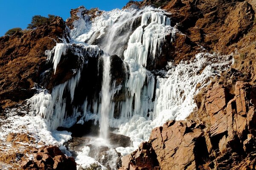
<instances>
[{"instance_id":1,"label":"rough dark brown rock slope at left, below the ridge shrubs","mask_svg":"<svg viewBox=\"0 0 256 170\"><path fill-rule=\"evenodd\" d=\"M3 109L35 93L40 74L50 68L45 51L65 36L65 23L57 17L49 26L0 37L0 105Z\"/></svg>"}]
</instances>

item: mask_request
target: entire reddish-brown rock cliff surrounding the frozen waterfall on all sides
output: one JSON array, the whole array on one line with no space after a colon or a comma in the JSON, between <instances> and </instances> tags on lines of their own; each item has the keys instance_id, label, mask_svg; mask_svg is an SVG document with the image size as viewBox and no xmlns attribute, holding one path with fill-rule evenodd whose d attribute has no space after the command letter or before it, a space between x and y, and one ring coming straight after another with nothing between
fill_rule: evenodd
<instances>
[{"instance_id":1,"label":"entire reddish-brown rock cliff surrounding the frozen waterfall on all sides","mask_svg":"<svg viewBox=\"0 0 256 170\"><path fill-rule=\"evenodd\" d=\"M149 71L154 73L156 69L165 70L169 61L173 61L174 64L182 60L189 62L199 52L233 54L233 65L220 76L213 78L207 87L194 96L198 106L197 111L184 121L169 121L161 127L154 128L148 142L141 143L138 150L122 158L121 169L255 169L256 2L254 0L144 0L128 3L124 8L129 8L133 4L139 8L151 4L165 9L169 12L171 25L179 30L174 35L169 34L165 37L162 51L157 54L157 58L153 60L148 55L147 62L151 64L145 67ZM61 18L57 18L49 26L42 26L28 33L0 37L0 113L8 108L17 108L19 104L31 98L38 87L44 86L51 92L55 86L78 75L80 68L82 68L81 80L76 90L73 89L74 100L68 90L63 93L67 103L73 100L73 105L79 108L84 100L90 103L99 98L104 65L99 56L103 55L103 51L93 55L91 51L88 52L79 45L69 44L65 55L61 54L61 60L55 70L52 68L52 59L47 59L45 53L47 50L48 52L52 50L56 42L69 40L68 34L75 28L74 21L79 20L77 14L79 12L84 17L83 20L90 16L88 20L92 21L102 13L97 8L86 10L84 7L79 7L70 12L71 17L66 23ZM129 23L132 25L129 34L140 23L141 17L136 18L132 24ZM124 33L125 31L119 32L119 34ZM105 38L108 39L102 36L91 40L90 43L100 46ZM125 41L125 44L127 43L128 40ZM127 45L120 51L123 53L125 48ZM84 58L81 58L81 55ZM115 80L115 87L122 87L119 93L113 95L113 101L123 102L127 91L124 88L125 79L131 76L127 74L129 67L123 61L122 55L111 55L110 58L111 83ZM153 85L153 88L155 86ZM197 87L199 86L198 84ZM97 102L99 103L96 100L96 104ZM134 101L131 105L134 107ZM65 107L67 116L70 116L74 111L73 106L67 104ZM119 118L118 108L114 110L113 117ZM1 116L5 116L3 113ZM76 126L86 127L86 123L84 126L80 124ZM72 128L77 136L83 135L77 132L75 126ZM15 136L19 135L15 134ZM12 142L15 148L17 141L12 139L14 135L10 134L10 136L9 142ZM30 139L25 140L25 142L29 141ZM26 150L22 154L29 153L35 148L29 149L30 151ZM16 159L17 155L14 154L16 151L2 154L1 161L11 162L12 160L7 159L10 155L13 160ZM16 159L15 167L19 167L19 164L23 169L40 168L40 166L41 168L63 167L65 164L60 162L71 162L71 169L76 168L74 160L61 153L51 154L44 148L33 152L34 160ZM56 149L56 152L58 153L59 150ZM47 162L44 160L45 157L50 157Z\"/></svg>"}]
</instances>

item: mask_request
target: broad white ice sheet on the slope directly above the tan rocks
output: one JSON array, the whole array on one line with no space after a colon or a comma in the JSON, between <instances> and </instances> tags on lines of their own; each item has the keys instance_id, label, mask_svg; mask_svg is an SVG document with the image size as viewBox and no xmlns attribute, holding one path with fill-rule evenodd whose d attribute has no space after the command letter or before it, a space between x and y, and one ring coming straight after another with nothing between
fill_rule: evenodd
<instances>
[{"instance_id":1,"label":"broad white ice sheet on the slope directly above the tan rocks","mask_svg":"<svg viewBox=\"0 0 256 170\"><path fill-rule=\"evenodd\" d=\"M169 120L185 119L197 109L194 95L210 82L210 78L229 68L232 62L229 57L200 53L191 62L180 62L176 66L169 63L170 69L165 77L157 77L154 111L150 113L152 115L147 119L134 115L127 123L120 125L118 133L130 136L133 148L137 148L140 142L149 139L154 127ZM200 87L197 88L199 84ZM125 155L131 149L128 147L117 150Z\"/></svg>"}]
</instances>

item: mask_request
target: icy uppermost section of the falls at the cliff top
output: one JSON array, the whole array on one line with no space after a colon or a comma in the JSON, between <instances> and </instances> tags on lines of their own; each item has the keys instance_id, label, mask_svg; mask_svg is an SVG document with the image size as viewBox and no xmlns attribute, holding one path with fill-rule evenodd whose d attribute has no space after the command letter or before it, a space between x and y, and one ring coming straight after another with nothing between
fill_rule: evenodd
<instances>
[{"instance_id":1,"label":"icy uppermost section of the falls at the cliff top","mask_svg":"<svg viewBox=\"0 0 256 170\"><path fill-rule=\"evenodd\" d=\"M145 45L150 45L154 49L154 55L157 45L163 42L164 35L168 34L166 29L170 29L171 21L165 16L166 12L162 9L145 7L138 10L137 8L114 9L112 11L101 11L93 20L88 20L88 16L78 14L79 20L76 20L73 25L75 28L71 31L71 36L76 42L92 43L103 38L99 47L109 54L123 55L123 47L127 45L130 35L133 33L133 26L136 25L139 18L142 18L140 23L141 28L152 23L145 34L151 34L150 37L143 42ZM151 22L148 20L151 18ZM163 24L163 26L162 26ZM131 39L131 37L130 37ZM149 46L146 46L148 49ZM140 47L142 48L142 47ZM142 49L141 49L142 50ZM148 51L144 50L146 56ZM146 56L147 57L147 56Z\"/></svg>"}]
</instances>

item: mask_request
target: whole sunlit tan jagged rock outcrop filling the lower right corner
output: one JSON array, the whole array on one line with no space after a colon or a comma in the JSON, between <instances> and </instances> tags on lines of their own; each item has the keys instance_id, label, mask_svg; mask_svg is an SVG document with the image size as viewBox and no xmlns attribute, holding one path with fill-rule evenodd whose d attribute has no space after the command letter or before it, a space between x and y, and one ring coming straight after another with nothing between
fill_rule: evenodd
<instances>
[{"instance_id":1,"label":"whole sunlit tan jagged rock outcrop filling the lower right corner","mask_svg":"<svg viewBox=\"0 0 256 170\"><path fill-rule=\"evenodd\" d=\"M123 157L122 169L255 169L256 86L234 80L239 77L230 76L232 72L237 74L232 69L224 73L231 77L228 82L223 82L224 76L215 79L201 100L196 98L199 114L189 119L198 123L170 121L155 128L148 142ZM143 150L145 144L149 147ZM148 152L155 155L149 156ZM152 166L149 158L158 164Z\"/></svg>"}]
</instances>

